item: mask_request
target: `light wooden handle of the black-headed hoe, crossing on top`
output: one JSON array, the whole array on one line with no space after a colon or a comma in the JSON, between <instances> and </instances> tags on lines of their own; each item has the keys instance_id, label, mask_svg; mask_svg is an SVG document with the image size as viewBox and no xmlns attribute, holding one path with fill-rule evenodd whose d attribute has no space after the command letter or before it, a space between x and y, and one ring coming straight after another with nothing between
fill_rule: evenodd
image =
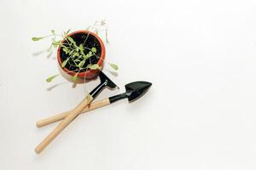
<instances>
[{"instance_id":1,"label":"light wooden handle of the black-headed hoe, crossing on top","mask_svg":"<svg viewBox=\"0 0 256 170\"><path fill-rule=\"evenodd\" d=\"M65 117L65 119L63 121L61 121L61 123L55 127L55 129L49 133L49 135L40 143L38 144L38 146L35 148L35 152L36 153L40 153L42 150L44 150L44 148L53 140L55 139L55 137L61 133L61 131L67 127L67 125L73 121L73 119L76 116L79 116L79 113L81 111L83 111L84 107L86 107L87 105L90 104L90 102L92 101L92 97L91 95L87 95L86 98L73 110L71 111L71 113Z\"/></svg>"}]
</instances>

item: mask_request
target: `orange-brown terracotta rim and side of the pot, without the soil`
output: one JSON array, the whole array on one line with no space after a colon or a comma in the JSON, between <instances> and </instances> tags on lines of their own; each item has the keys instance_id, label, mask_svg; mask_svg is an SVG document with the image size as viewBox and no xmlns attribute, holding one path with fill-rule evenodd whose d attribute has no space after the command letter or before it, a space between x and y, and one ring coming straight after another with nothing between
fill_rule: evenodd
<instances>
[{"instance_id":1,"label":"orange-brown terracotta rim and side of the pot, without the soil","mask_svg":"<svg viewBox=\"0 0 256 170\"><path fill-rule=\"evenodd\" d=\"M74 32L68 34L68 37L73 37L73 36L79 35L81 33L84 34L84 35L90 33L90 36L95 37L96 41L99 42L100 48L101 48L101 55L100 55L100 59L97 61L97 64L99 66L103 66L103 61L105 59L106 50L105 50L104 43L102 42L102 39L100 37L98 37L95 33L90 32L90 31L74 31ZM62 42L65 42L65 41L66 40L63 40ZM75 41L75 39L74 39L74 41ZM87 42L85 42L85 44L86 43ZM97 48L97 50L98 50L98 48ZM61 60L61 47L60 46L59 46L58 51L57 51L57 59L58 59L59 65L61 67L61 64L62 64L63 61ZM66 67L61 68L61 69L63 71L65 71L70 76L74 76L76 74L76 72L70 71ZM83 78L83 79L84 79L84 77L86 79L92 79L92 78L96 77L98 75L98 73L99 73L99 70L88 70L88 71L84 71L84 72L79 72L78 77Z\"/></svg>"}]
</instances>

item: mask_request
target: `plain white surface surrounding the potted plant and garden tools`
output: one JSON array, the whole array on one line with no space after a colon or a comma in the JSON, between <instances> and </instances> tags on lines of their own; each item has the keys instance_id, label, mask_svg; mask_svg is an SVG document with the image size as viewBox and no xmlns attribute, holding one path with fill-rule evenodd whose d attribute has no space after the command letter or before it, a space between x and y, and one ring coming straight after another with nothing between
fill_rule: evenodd
<instances>
[{"instance_id":1,"label":"plain white surface surrounding the potted plant and garden tools","mask_svg":"<svg viewBox=\"0 0 256 170\"><path fill-rule=\"evenodd\" d=\"M255 9L255 0L0 0L0 169L256 169ZM134 103L79 116L37 155L56 124L35 122L73 109L84 86L45 82L58 73L56 55L35 56L49 40L31 37L101 19L120 89L97 99L128 82L153 86Z\"/></svg>"}]
</instances>

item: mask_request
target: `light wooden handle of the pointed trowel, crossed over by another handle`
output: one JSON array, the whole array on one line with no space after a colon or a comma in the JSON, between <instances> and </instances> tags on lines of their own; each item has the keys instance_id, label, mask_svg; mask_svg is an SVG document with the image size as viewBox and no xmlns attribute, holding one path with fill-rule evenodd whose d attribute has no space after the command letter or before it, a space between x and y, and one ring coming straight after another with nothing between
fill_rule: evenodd
<instances>
[{"instance_id":1,"label":"light wooden handle of the pointed trowel, crossed over by another handle","mask_svg":"<svg viewBox=\"0 0 256 170\"><path fill-rule=\"evenodd\" d=\"M87 111L95 110L97 108L100 108L100 107L103 107L103 106L106 106L109 104L110 104L110 102L109 102L108 98L93 102L90 105L87 105L80 114L85 113ZM50 116L48 118L41 119L37 122L37 127L44 127L45 125L48 125L50 123L61 121L66 116L68 116L70 113L71 113L71 111L66 111L66 112L60 113L55 116Z\"/></svg>"}]
</instances>

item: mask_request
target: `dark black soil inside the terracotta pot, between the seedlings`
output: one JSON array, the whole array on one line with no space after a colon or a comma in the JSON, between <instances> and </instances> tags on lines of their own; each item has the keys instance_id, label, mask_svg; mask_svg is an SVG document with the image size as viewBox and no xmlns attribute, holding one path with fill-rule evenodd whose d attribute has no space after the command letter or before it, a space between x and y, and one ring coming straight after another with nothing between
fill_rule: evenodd
<instances>
[{"instance_id":1,"label":"dark black soil inside the terracotta pot, between the seedlings","mask_svg":"<svg viewBox=\"0 0 256 170\"><path fill-rule=\"evenodd\" d=\"M79 44L83 44L86 37L87 37L87 33L77 33L77 34L74 34L73 36L71 36L73 38L73 40L77 43L77 45L79 46ZM67 43L64 42L64 43ZM102 48L101 48L101 43L96 39L96 37L92 36L91 34L87 37L87 40L86 42L84 43L84 47L86 48L96 48L96 55L93 55L90 57L90 59L87 59L87 61L84 63L84 67L86 67L87 65L94 65L94 64L97 64L98 60L100 59L99 57L101 56L102 54ZM84 50L84 54L87 54L90 50L89 49L85 49ZM60 51L60 56L61 56L61 62L63 62L65 59L67 59L68 57L68 54L66 54L62 48L61 48L61 51ZM96 57L98 56L98 57ZM67 62L67 65L65 66L65 68L67 68L67 70L69 71L74 71L74 72L77 72L77 70L79 70L79 67L77 66L73 66L74 63L72 61L72 59L69 60L70 64ZM88 69L90 70L90 69ZM84 72L84 70L80 71L80 72Z\"/></svg>"}]
</instances>

